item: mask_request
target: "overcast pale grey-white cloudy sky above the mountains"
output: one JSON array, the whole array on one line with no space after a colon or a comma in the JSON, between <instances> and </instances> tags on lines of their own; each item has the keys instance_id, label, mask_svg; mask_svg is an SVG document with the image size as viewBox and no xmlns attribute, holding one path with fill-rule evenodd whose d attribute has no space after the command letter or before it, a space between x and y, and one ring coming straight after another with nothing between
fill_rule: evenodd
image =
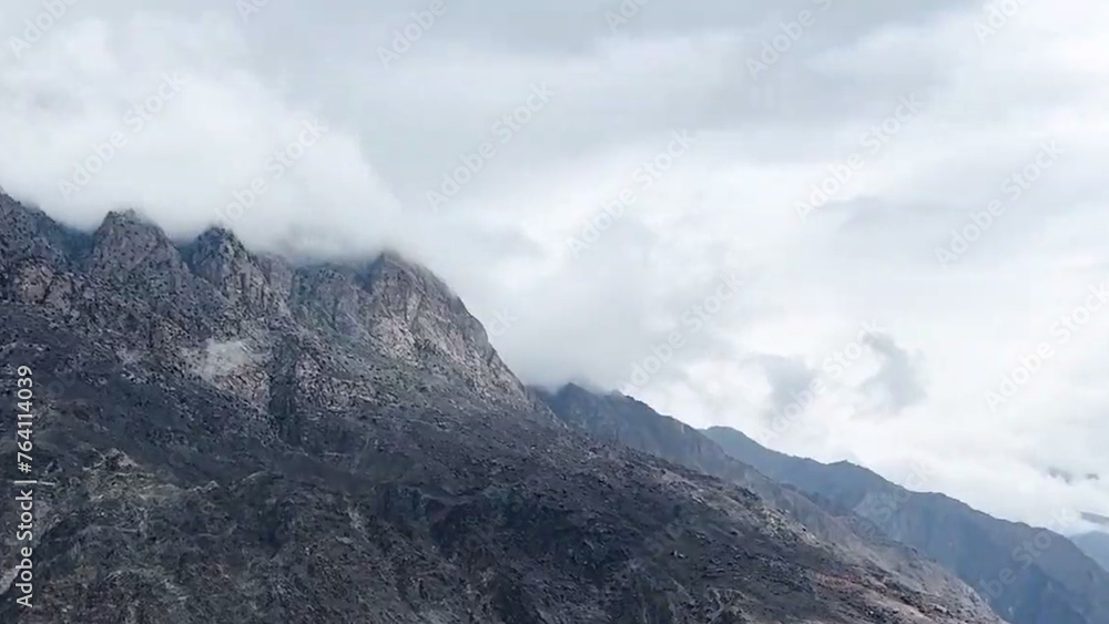
<instances>
[{"instance_id":1,"label":"overcast pale grey-white cloudy sky above the mountains","mask_svg":"<svg viewBox=\"0 0 1109 624\"><path fill-rule=\"evenodd\" d=\"M1103 2L54 1L0 185L67 223L395 247L528 382L1109 514Z\"/></svg>"}]
</instances>

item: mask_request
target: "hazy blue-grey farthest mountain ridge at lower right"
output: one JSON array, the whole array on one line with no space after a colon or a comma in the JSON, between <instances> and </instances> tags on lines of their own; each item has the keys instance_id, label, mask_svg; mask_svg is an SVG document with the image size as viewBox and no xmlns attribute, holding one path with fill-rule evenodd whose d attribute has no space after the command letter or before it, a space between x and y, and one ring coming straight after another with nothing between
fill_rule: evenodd
<instances>
[{"instance_id":1,"label":"hazy blue-grey farthest mountain ridge at lower right","mask_svg":"<svg viewBox=\"0 0 1109 624\"><path fill-rule=\"evenodd\" d=\"M943 494L912 492L848 462L777 453L734 429L704 433L771 479L862 516L874 532L939 562L1013 624L1109 623L1109 572L1057 533L991 518Z\"/></svg>"}]
</instances>

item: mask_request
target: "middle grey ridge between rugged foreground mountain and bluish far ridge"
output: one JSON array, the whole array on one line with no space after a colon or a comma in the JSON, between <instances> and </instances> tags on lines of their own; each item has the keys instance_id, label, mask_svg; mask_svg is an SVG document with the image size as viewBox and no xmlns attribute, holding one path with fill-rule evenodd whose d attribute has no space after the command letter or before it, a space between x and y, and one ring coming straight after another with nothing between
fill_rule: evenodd
<instances>
[{"instance_id":1,"label":"middle grey ridge between rugged foreground mountain and bluish far ridge","mask_svg":"<svg viewBox=\"0 0 1109 624\"><path fill-rule=\"evenodd\" d=\"M837 518L802 492L771 481L730 457L702 432L643 402L572 383L557 392L532 391L571 427L756 492L766 504L785 511L816 538L834 544L842 557L879 570L912 591L938 596L945 604L956 605L953 613L973 617L989 612L980 596L939 565L899 543L859 533L849 519Z\"/></svg>"}]
</instances>

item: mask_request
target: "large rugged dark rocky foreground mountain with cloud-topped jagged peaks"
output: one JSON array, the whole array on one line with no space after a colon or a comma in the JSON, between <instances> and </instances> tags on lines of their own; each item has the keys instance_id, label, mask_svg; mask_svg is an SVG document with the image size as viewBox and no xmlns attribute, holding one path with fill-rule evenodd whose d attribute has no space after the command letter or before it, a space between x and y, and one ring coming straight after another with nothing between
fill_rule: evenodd
<instances>
[{"instance_id":1,"label":"large rugged dark rocky foreground mountain with cloud-topped jagged peaks","mask_svg":"<svg viewBox=\"0 0 1109 624\"><path fill-rule=\"evenodd\" d=\"M0 622L998 622L566 426L395 254L294 264L134 213L89 234L0 195L0 402L27 378Z\"/></svg>"}]
</instances>

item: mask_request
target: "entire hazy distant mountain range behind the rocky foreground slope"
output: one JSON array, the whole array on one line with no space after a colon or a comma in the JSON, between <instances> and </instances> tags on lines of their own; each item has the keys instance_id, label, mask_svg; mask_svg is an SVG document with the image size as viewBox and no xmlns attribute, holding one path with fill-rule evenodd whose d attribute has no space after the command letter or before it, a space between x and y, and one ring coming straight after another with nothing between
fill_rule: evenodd
<instances>
[{"instance_id":1,"label":"entire hazy distant mountain range behind the rocky foreground slope","mask_svg":"<svg viewBox=\"0 0 1109 624\"><path fill-rule=\"evenodd\" d=\"M568 423L749 487L817 535L851 544L856 556L887 570L922 570L888 542L922 553L1013 624L1109 623L1109 572L1061 535L942 494L910 492L847 462L779 453L733 429L699 431L619 393L567 386L538 395ZM938 579L935 571L927 575Z\"/></svg>"}]
</instances>

